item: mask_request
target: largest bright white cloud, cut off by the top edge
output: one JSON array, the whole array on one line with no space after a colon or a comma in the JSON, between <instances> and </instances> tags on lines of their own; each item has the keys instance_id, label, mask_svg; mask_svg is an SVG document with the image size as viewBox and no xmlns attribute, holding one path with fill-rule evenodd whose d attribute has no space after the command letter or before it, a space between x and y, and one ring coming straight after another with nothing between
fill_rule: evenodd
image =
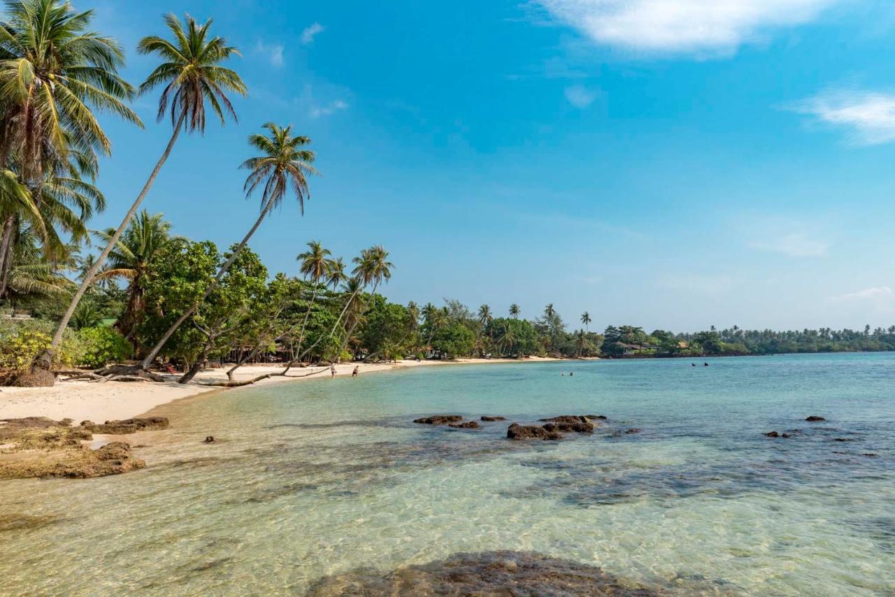
<instances>
[{"instance_id":1,"label":"largest bright white cloud, cut off by the top edge","mask_svg":"<svg viewBox=\"0 0 895 597\"><path fill-rule=\"evenodd\" d=\"M648 53L729 54L841 0L533 0L592 41Z\"/></svg>"}]
</instances>

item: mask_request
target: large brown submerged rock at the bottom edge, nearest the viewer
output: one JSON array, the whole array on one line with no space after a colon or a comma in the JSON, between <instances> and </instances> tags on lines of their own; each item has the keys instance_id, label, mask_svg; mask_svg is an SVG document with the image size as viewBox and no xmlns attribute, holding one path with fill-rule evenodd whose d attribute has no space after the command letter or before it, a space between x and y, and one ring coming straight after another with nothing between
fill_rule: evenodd
<instances>
[{"instance_id":1,"label":"large brown submerged rock at the bottom edge, nearest the viewer","mask_svg":"<svg viewBox=\"0 0 895 597\"><path fill-rule=\"evenodd\" d=\"M579 564L568 559L548 558L532 552L488 551L458 553L430 564L399 568L385 576L373 569L359 569L345 575L328 576L314 584L309 594L312 597L341 595L652 597L667 593L660 593L609 575L599 567Z\"/></svg>"}]
</instances>

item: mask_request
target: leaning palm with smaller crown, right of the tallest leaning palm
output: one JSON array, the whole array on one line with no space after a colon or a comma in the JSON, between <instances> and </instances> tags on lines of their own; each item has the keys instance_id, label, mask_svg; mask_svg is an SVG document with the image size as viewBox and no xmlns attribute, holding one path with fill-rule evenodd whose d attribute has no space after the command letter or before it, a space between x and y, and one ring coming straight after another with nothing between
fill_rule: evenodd
<instances>
[{"instance_id":1,"label":"leaning palm with smaller crown, right of the tallest leaning palm","mask_svg":"<svg viewBox=\"0 0 895 597\"><path fill-rule=\"evenodd\" d=\"M212 106L214 105L212 103ZM260 214L249 232L243 236L243 240L230 253L230 257L217 270L217 276L205 289L205 294L200 302L184 311L171 327L167 329L161 339L158 340L158 344L143 359L141 362L143 371L149 370L149 365L155 360L158 351L166 344L168 338L175 333L177 328L180 328L184 321L192 317L192 314L199 308L200 303L209 297L227 270L233 265L234 260L243 251L245 245L249 243L249 239L258 230L264 218L268 216L272 209L282 204L286 193L290 189L294 193L295 199L298 200L299 209L304 214L304 201L310 198L307 177L318 174L314 166L311 166L311 162L315 158L314 152L311 149L305 149L305 146L311 143L311 140L303 136L294 136L291 124L282 127L268 123L264 125L264 128L268 131L267 136L260 133L249 136L249 144L260 150L262 155L257 158L249 158L240 166L251 170L243 186L246 199L251 197L251 193L259 186L262 186L261 183L263 183Z\"/></svg>"}]
</instances>

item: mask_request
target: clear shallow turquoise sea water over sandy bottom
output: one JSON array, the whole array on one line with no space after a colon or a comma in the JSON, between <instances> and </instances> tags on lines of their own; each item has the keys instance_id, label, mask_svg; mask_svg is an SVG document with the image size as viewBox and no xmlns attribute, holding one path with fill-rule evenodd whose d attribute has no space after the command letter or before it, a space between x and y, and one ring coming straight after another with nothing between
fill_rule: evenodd
<instances>
[{"instance_id":1,"label":"clear shallow turquoise sea water over sandy bottom","mask_svg":"<svg viewBox=\"0 0 895 597\"><path fill-rule=\"evenodd\" d=\"M0 593L303 593L486 550L681 593L895 593L895 354L710 362L432 367L168 405L174 428L133 442L145 471L0 483L0 520L34 517L0 530ZM609 421L524 443L506 422L411 422L438 413Z\"/></svg>"}]
</instances>

